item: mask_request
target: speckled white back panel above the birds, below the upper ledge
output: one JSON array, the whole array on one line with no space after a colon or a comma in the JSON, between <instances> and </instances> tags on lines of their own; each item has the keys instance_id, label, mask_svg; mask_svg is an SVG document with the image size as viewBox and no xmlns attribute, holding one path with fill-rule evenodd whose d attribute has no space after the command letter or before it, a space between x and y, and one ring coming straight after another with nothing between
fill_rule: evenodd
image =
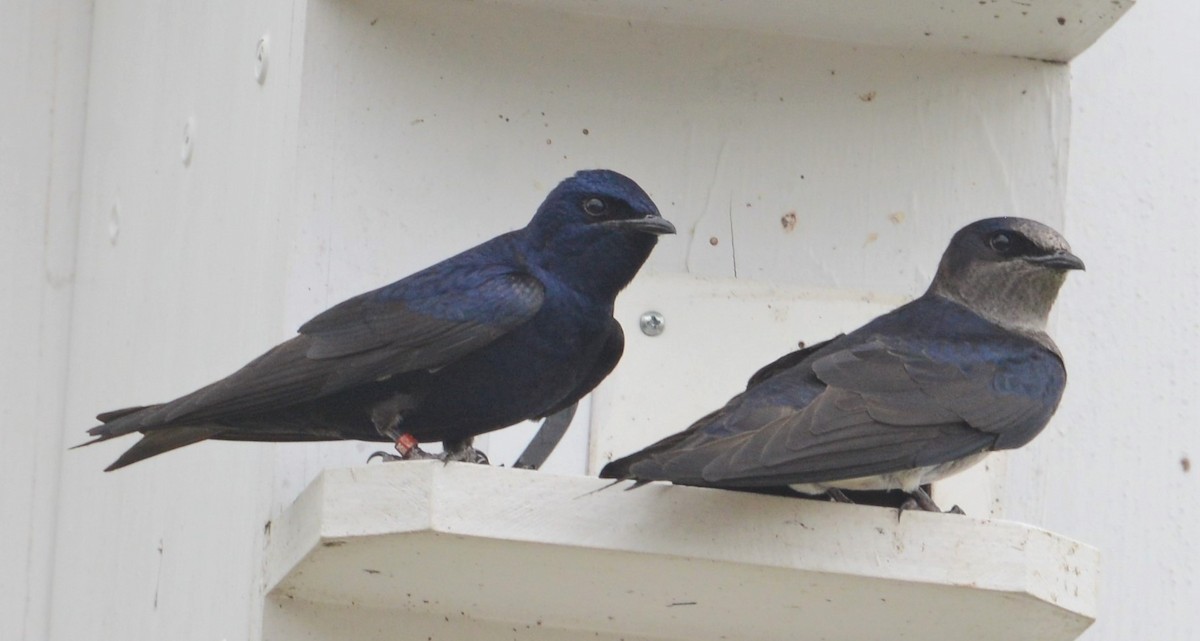
<instances>
[{"instance_id":1,"label":"speckled white back panel above the birds, below the upper ledge","mask_svg":"<svg viewBox=\"0 0 1200 641\"><path fill-rule=\"evenodd\" d=\"M1061 65L421 0L311 12L295 322L524 224L581 167L677 222L660 271L911 294L964 222L1061 221Z\"/></svg>"}]
</instances>

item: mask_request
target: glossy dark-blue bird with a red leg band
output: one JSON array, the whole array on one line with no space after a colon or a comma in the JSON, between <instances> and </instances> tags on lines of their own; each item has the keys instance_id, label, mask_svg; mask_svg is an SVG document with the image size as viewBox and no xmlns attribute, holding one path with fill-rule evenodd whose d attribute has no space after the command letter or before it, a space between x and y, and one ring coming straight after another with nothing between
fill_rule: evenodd
<instances>
[{"instance_id":1,"label":"glossy dark-blue bird with a red leg band","mask_svg":"<svg viewBox=\"0 0 1200 641\"><path fill-rule=\"evenodd\" d=\"M197 443L442 441L554 414L617 365L613 301L674 227L616 172L576 173L529 224L318 314L294 339L174 401L97 417L142 439L108 469Z\"/></svg>"}]
</instances>

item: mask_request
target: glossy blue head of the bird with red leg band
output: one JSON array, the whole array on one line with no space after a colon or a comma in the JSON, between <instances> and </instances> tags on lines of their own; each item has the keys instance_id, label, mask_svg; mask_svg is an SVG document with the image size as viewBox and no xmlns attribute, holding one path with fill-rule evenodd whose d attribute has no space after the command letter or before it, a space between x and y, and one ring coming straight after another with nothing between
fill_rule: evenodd
<instances>
[{"instance_id":1,"label":"glossy blue head of the bird with red leg band","mask_svg":"<svg viewBox=\"0 0 1200 641\"><path fill-rule=\"evenodd\" d=\"M526 239L530 259L580 289L616 296L661 234L676 233L629 178L588 169L559 182L538 208Z\"/></svg>"}]
</instances>

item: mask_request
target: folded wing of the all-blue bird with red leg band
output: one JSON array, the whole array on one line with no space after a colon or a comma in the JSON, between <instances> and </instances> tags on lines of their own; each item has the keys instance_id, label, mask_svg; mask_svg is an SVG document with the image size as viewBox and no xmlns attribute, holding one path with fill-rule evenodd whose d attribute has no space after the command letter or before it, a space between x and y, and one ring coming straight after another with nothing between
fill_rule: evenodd
<instances>
[{"instance_id":1,"label":"folded wing of the all-blue bird with red leg band","mask_svg":"<svg viewBox=\"0 0 1200 641\"><path fill-rule=\"evenodd\" d=\"M523 272L476 270L425 298L397 296L406 281L332 307L305 323L299 336L205 388L137 412L103 414L101 420L112 420L89 433L220 423L443 367L527 322L545 299L541 283Z\"/></svg>"}]
</instances>

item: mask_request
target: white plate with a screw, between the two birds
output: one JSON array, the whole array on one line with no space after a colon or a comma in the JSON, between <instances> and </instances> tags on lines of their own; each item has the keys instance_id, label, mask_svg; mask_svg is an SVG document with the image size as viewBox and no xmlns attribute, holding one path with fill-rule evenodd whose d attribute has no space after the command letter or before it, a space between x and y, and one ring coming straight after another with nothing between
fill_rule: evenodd
<instances>
[{"instance_id":1,"label":"white plate with a screw, between the two birds","mask_svg":"<svg viewBox=\"0 0 1200 641\"><path fill-rule=\"evenodd\" d=\"M625 357L596 390L588 471L636 451L725 405L763 365L850 331L904 302L842 289L654 274L622 293ZM638 319L661 312L662 334Z\"/></svg>"}]
</instances>

